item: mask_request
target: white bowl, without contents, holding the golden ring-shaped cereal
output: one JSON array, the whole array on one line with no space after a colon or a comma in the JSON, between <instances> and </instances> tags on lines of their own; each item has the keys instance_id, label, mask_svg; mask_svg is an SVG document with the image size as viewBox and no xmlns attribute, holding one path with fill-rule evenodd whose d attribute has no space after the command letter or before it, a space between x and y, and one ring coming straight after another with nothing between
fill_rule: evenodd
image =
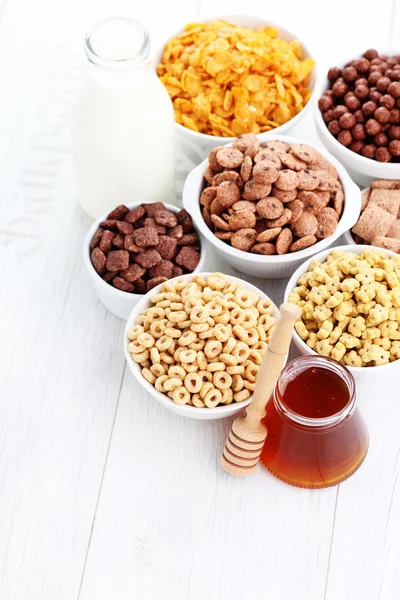
<instances>
[{"instance_id":1,"label":"white bowl, without contents, holding the golden ring-shaped cereal","mask_svg":"<svg viewBox=\"0 0 400 600\"><path fill-rule=\"evenodd\" d=\"M209 275L212 275L212 273L199 273L199 275L207 278ZM251 290L252 292L255 292L261 298L270 299L266 294L264 294L264 292L262 292L261 290L256 288L254 285L251 285L251 283L248 283L247 281L243 281L242 279L238 279L237 277L231 277L230 275L225 275L225 278L228 282L234 281L236 283L239 283L241 287L243 287L246 290ZM176 279L185 279L189 282L192 280L192 275L191 274L182 275L182 277L177 277ZM171 280L171 281L173 281L173 280ZM133 327L133 325L135 325L136 319L138 318L138 316L144 310L146 310L146 308L153 306L150 298L152 298L156 294L159 294L161 292L161 287L162 287L162 285L156 286L155 288L153 288L150 292L148 292L145 296L143 296L139 300L139 302L136 304L136 306L133 308L131 314L129 315L128 321L126 323L126 327L125 327L125 331L124 331L124 352L125 352L126 362L128 363L128 366L132 372L132 375L140 383L140 385L150 394L150 396L152 396L155 400L157 400L157 402L162 404L162 406L164 406L165 408L172 410L172 412L175 412L178 415L182 415L183 417L189 417L191 419L201 419L201 420L223 419L224 417L230 417L230 416L236 414L237 412L241 411L243 408L245 408L246 406L248 406L250 404L253 396L250 396L247 400L244 400L243 402L239 402L239 403L232 402L232 404L228 404L227 406L217 406L215 408L197 408L195 406L187 406L187 405L180 406L178 404L175 404L167 395L162 394L161 392L158 392L155 389L155 387L152 386L151 383L149 383L142 376L140 365L138 365L135 361L132 360L132 357L128 350L128 345L130 343L130 340L128 339L128 331L131 329L131 327ZM272 300L271 300L271 302L272 302ZM279 319L279 316L280 316L279 310L277 309L275 304L274 304L273 316L277 319Z\"/></svg>"}]
</instances>

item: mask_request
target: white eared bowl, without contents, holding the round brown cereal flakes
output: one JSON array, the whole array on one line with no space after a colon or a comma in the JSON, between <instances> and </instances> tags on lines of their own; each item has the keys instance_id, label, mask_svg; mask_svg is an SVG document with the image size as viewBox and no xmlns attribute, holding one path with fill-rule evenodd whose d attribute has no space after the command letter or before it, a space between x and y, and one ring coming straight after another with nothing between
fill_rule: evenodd
<instances>
[{"instance_id":1,"label":"white eared bowl, without contents, holding the round brown cereal flakes","mask_svg":"<svg viewBox=\"0 0 400 600\"><path fill-rule=\"evenodd\" d=\"M321 154L336 167L340 181L343 185L345 202L342 217L335 233L331 236L317 242L314 246L310 246L305 250L280 256L262 256L232 248L232 246L226 244L223 240L220 240L214 235L205 224L201 214L200 194L204 187L203 173L208 164L207 160L203 161L189 173L183 188L182 198L184 207L192 215L193 221L196 223L200 232L215 248L217 254L222 256L222 258L235 269L249 275L254 275L255 277L264 277L266 279L291 275L306 258L333 244L342 233L353 227L358 219L361 207L361 192L359 188L350 179L342 165L331 156L325 148L291 136L274 135L270 139L282 140L289 144L308 144L321 152Z\"/></svg>"}]
</instances>

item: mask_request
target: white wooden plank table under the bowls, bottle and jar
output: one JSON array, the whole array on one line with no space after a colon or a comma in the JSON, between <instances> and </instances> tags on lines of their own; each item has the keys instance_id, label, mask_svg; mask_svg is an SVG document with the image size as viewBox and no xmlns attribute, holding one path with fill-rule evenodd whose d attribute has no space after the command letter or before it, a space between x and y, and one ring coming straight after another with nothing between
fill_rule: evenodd
<instances>
[{"instance_id":1,"label":"white wooden plank table under the bowls, bottle and jar","mask_svg":"<svg viewBox=\"0 0 400 600\"><path fill-rule=\"evenodd\" d=\"M0 0L1 600L400 597L398 383L359 387L371 446L340 486L229 477L229 421L179 418L135 385L124 324L84 272L68 126L85 29L124 14L158 42L244 11L298 32L322 68L400 33L398 0ZM312 119L296 133L316 139ZM254 283L281 300L284 281Z\"/></svg>"}]
</instances>

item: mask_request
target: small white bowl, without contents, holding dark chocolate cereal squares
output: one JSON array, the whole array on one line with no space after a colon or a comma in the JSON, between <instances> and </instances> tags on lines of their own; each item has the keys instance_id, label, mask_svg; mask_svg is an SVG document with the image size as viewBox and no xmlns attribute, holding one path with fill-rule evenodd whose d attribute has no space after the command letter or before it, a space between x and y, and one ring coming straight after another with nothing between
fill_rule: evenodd
<instances>
[{"instance_id":1,"label":"small white bowl, without contents, holding dark chocolate cereal squares","mask_svg":"<svg viewBox=\"0 0 400 600\"><path fill-rule=\"evenodd\" d=\"M127 204L126 206L132 210L136 206L140 206L141 202L134 202L132 204ZM172 204L165 204L164 206L177 214L181 209L177 206L173 206ZM83 242L83 262L85 263L87 272L89 273L89 277L92 280L93 286L97 292L97 295L104 304L104 306L116 317L120 319L127 319L132 307L138 302L141 298L144 298L145 294L132 294L130 292L123 292L122 290L118 290L114 286L110 285L104 279L100 277L100 275L95 271L92 262L90 260L90 242L93 239L94 234L96 233L99 225L102 221L107 219L107 215L103 215L97 221L93 223L91 228L86 234L85 241ZM193 228L197 232L200 238L200 261L193 273L198 273L201 271L204 265L204 261L206 259L206 244L201 237L200 231L196 227L193 221Z\"/></svg>"}]
</instances>

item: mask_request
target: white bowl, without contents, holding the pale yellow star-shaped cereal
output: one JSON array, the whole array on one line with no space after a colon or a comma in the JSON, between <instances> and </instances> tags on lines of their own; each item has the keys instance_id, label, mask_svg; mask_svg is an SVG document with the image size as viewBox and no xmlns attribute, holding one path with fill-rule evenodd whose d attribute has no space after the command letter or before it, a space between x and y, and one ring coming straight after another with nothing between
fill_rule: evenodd
<instances>
[{"instance_id":1,"label":"white bowl, without contents, holding the pale yellow star-shaped cereal","mask_svg":"<svg viewBox=\"0 0 400 600\"><path fill-rule=\"evenodd\" d=\"M328 250L324 250L323 252L316 254L309 260L306 260L306 262L303 263L297 269L297 271L295 271L293 273L292 277L289 279L289 282L286 286L284 302L287 302L289 295L292 292L293 288L295 288L297 286L297 281L299 280L299 278L302 275L304 275L304 273L307 272L311 261L319 260L320 262L324 262L324 260L327 258L327 256L329 256L329 254L332 252L332 250L339 250L339 251L343 251L343 252L354 252L355 254L362 254L364 252L364 250L376 250L377 252L382 252L382 251L386 252L386 254L388 256L395 256L395 252L391 252L390 250L385 250L384 248L377 248L375 246L365 246L365 245L361 245L361 244L355 244L353 246L337 246L335 248L330 248ZM301 337L299 336L299 334L297 333L296 330L293 332L293 341L301 354L307 354L307 355L315 354L316 356L320 356L317 352L315 352L315 350L312 350L309 346L307 346L307 344L301 339ZM396 360L387 365L379 365L377 367L349 367L348 365L346 365L346 367L349 369L349 371L351 372L351 374L353 375L353 377L357 383L360 383L361 381L376 383L379 380L381 380L382 377L385 377L387 374L388 375L393 374L393 373L399 374L400 373L400 360Z\"/></svg>"}]
</instances>

